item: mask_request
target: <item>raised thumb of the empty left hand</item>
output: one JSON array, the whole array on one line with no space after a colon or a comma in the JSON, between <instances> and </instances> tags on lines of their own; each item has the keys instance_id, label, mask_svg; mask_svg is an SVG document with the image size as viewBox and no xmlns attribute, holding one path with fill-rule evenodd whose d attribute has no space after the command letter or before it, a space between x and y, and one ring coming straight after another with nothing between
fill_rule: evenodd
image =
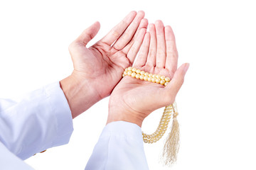
<instances>
[{"instance_id":1,"label":"raised thumb of the empty left hand","mask_svg":"<svg viewBox=\"0 0 256 170\"><path fill-rule=\"evenodd\" d=\"M81 35L76 39L77 42L82 42L82 44L87 45L87 43L92 40L92 38L97 35L100 30L100 23L95 22L89 28L85 29Z\"/></svg>"}]
</instances>

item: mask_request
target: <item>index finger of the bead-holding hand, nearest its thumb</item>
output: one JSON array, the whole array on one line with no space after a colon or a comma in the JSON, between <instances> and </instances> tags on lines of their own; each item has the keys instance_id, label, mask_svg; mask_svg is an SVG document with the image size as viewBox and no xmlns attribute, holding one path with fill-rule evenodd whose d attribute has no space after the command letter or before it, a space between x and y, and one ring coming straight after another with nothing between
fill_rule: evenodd
<instances>
[{"instance_id":1,"label":"index finger of the bead-holding hand, nearest its thumb","mask_svg":"<svg viewBox=\"0 0 256 170\"><path fill-rule=\"evenodd\" d=\"M178 64L178 51L176 48L174 32L171 26L164 28L165 39L166 39L166 69L171 72L176 72Z\"/></svg>"}]
</instances>

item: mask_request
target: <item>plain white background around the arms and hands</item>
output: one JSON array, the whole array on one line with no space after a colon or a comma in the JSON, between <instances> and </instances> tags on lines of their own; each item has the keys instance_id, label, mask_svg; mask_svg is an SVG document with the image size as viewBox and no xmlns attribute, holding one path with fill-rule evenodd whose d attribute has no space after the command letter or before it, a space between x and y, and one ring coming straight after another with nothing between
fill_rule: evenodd
<instances>
[{"instance_id":1,"label":"plain white background around the arms and hands","mask_svg":"<svg viewBox=\"0 0 256 170\"><path fill-rule=\"evenodd\" d=\"M176 98L181 148L171 169L256 169L254 2L0 1L0 96L67 77L73 69L68 45L82 30L100 21L96 42L129 11L144 10L149 23L172 26L179 65L191 63ZM108 99L75 118L68 145L26 162L38 170L84 169L105 126ZM160 117L161 110L154 112L142 129L154 132ZM149 169L168 169L161 164L163 145L144 145Z\"/></svg>"}]
</instances>

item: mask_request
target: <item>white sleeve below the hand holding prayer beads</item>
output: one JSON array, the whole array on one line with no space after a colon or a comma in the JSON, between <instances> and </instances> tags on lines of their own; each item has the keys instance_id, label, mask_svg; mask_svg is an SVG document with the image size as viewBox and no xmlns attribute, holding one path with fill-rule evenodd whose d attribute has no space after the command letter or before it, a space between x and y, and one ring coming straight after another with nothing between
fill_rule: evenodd
<instances>
[{"instance_id":1,"label":"white sleeve below the hand holding prayer beads","mask_svg":"<svg viewBox=\"0 0 256 170\"><path fill-rule=\"evenodd\" d=\"M85 170L149 169L142 130L134 123L117 121L105 126Z\"/></svg>"}]
</instances>

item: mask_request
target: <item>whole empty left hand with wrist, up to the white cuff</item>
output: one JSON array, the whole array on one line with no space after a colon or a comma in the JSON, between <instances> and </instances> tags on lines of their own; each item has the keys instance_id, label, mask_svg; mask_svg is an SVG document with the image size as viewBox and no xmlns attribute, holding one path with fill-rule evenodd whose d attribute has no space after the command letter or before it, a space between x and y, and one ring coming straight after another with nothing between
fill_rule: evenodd
<instances>
[{"instance_id":1,"label":"whole empty left hand with wrist, up to the white cuff","mask_svg":"<svg viewBox=\"0 0 256 170\"><path fill-rule=\"evenodd\" d=\"M60 85L73 118L110 95L124 69L133 64L147 24L143 11L132 11L95 45L86 47L100 29L98 22L71 43L69 50L74 70Z\"/></svg>"}]
</instances>

